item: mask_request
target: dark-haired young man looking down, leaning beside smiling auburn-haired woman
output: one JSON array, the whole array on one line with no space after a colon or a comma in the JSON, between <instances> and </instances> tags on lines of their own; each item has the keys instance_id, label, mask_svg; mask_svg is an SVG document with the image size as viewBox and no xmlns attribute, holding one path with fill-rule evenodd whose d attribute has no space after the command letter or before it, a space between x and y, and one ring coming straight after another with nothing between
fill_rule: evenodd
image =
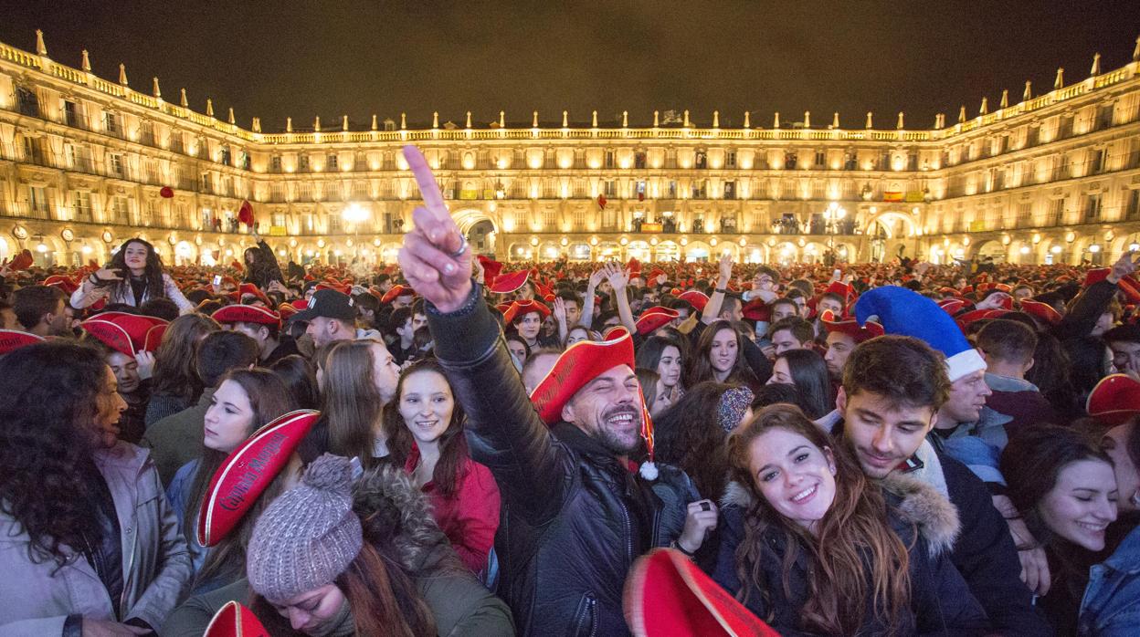
<instances>
[{"instance_id":1,"label":"dark-haired young man looking down, leaning beside smiling auburn-haired woman","mask_svg":"<svg viewBox=\"0 0 1140 637\"><path fill-rule=\"evenodd\" d=\"M1017 548L985 484L927 441L951 383L943 356L918 338L880 336L844 367L838 407L820 424L845 436L863 472L921 480L958 508L961 532L951 561L1002 635L1051 635L1020 580Z\"/></svg>"}]
</instances>

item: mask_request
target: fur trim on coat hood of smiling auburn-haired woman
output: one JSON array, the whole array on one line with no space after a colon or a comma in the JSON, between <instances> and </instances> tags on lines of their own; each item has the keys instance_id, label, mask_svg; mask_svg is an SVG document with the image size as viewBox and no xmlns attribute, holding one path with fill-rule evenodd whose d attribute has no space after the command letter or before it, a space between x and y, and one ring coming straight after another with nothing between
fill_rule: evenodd
<instances>
[{"instance_id":1,"label":"fur trim on coat hood of smiling auburn-haired woman","mask_svg":"<svg viewBox=\"0 0 1140 637\"><path fill-rule=\"evenodd\" d=\"M914 524L931 555L953 548L962 524L958 517L958 508L945 496L930 484L898 472L893 472L879 484L895 513L890 522L896 531L899 530L899 523ZM722 506L736 506L743 511L748 511L752 501L751 491L736 481L728 483L720 498Z\"/></svg>"}]
</instances>

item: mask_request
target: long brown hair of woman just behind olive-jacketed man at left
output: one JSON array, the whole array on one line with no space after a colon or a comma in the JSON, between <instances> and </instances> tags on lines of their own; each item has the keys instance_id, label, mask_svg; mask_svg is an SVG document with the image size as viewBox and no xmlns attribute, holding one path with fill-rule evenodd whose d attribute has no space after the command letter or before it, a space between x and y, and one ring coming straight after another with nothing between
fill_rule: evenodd
<instances>
[{"instance_id":1,"label":"long brown hair of woman just behind olive-jacketed man at left","mask_svg":"<svg viewBox=\"0 0 1140 637\"><path fill-rule=\"evenodd\" d=\"M198 342L221 326L202 315L184 315L170 321L154 354L152 395L174 395L189 402L202 393L202 379L195 368Z\"/></svg>"}]
</instances>

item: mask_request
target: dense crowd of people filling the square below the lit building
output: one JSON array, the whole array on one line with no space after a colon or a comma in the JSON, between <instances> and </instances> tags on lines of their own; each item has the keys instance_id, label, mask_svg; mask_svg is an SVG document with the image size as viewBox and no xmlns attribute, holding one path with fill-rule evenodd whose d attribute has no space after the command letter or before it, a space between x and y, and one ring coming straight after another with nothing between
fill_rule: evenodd
<instances>
[{"instance_id":1,"label":"dense crowd of people filling the square below the lit building","mask_svg":"<svg viewBox=\"0 0 1140 637\"><path fill-rule=\"evenodd\" d=\"M0 636L1135 634L1135 255L505 266L406 155L398 266L5 263Z\"/></svg>"}]
</instances>

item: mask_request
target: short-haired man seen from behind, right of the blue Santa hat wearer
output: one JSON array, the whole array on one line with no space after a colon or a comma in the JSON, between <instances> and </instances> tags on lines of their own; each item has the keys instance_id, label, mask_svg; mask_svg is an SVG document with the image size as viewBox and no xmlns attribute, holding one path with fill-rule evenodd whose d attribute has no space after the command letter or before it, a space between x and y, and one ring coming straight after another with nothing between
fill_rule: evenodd
<instances>
[{"instance_id":1,"label":"short-haired man seen from behind, right of the blue Santa hat wearer","mask_svg":"<svg viewBox=\"0 0 1140 637\"><path fill-rule=\"evenodd\" d=\"M1020 427L1058 423L1056 410L1025 373L1033 367L1037 335L1024 322L997 319L987 322L977 337L986 359L986 385L993 394L986 407L1012 418L1004 424L1012 435Z\"/></svg>"}]
</instances>

